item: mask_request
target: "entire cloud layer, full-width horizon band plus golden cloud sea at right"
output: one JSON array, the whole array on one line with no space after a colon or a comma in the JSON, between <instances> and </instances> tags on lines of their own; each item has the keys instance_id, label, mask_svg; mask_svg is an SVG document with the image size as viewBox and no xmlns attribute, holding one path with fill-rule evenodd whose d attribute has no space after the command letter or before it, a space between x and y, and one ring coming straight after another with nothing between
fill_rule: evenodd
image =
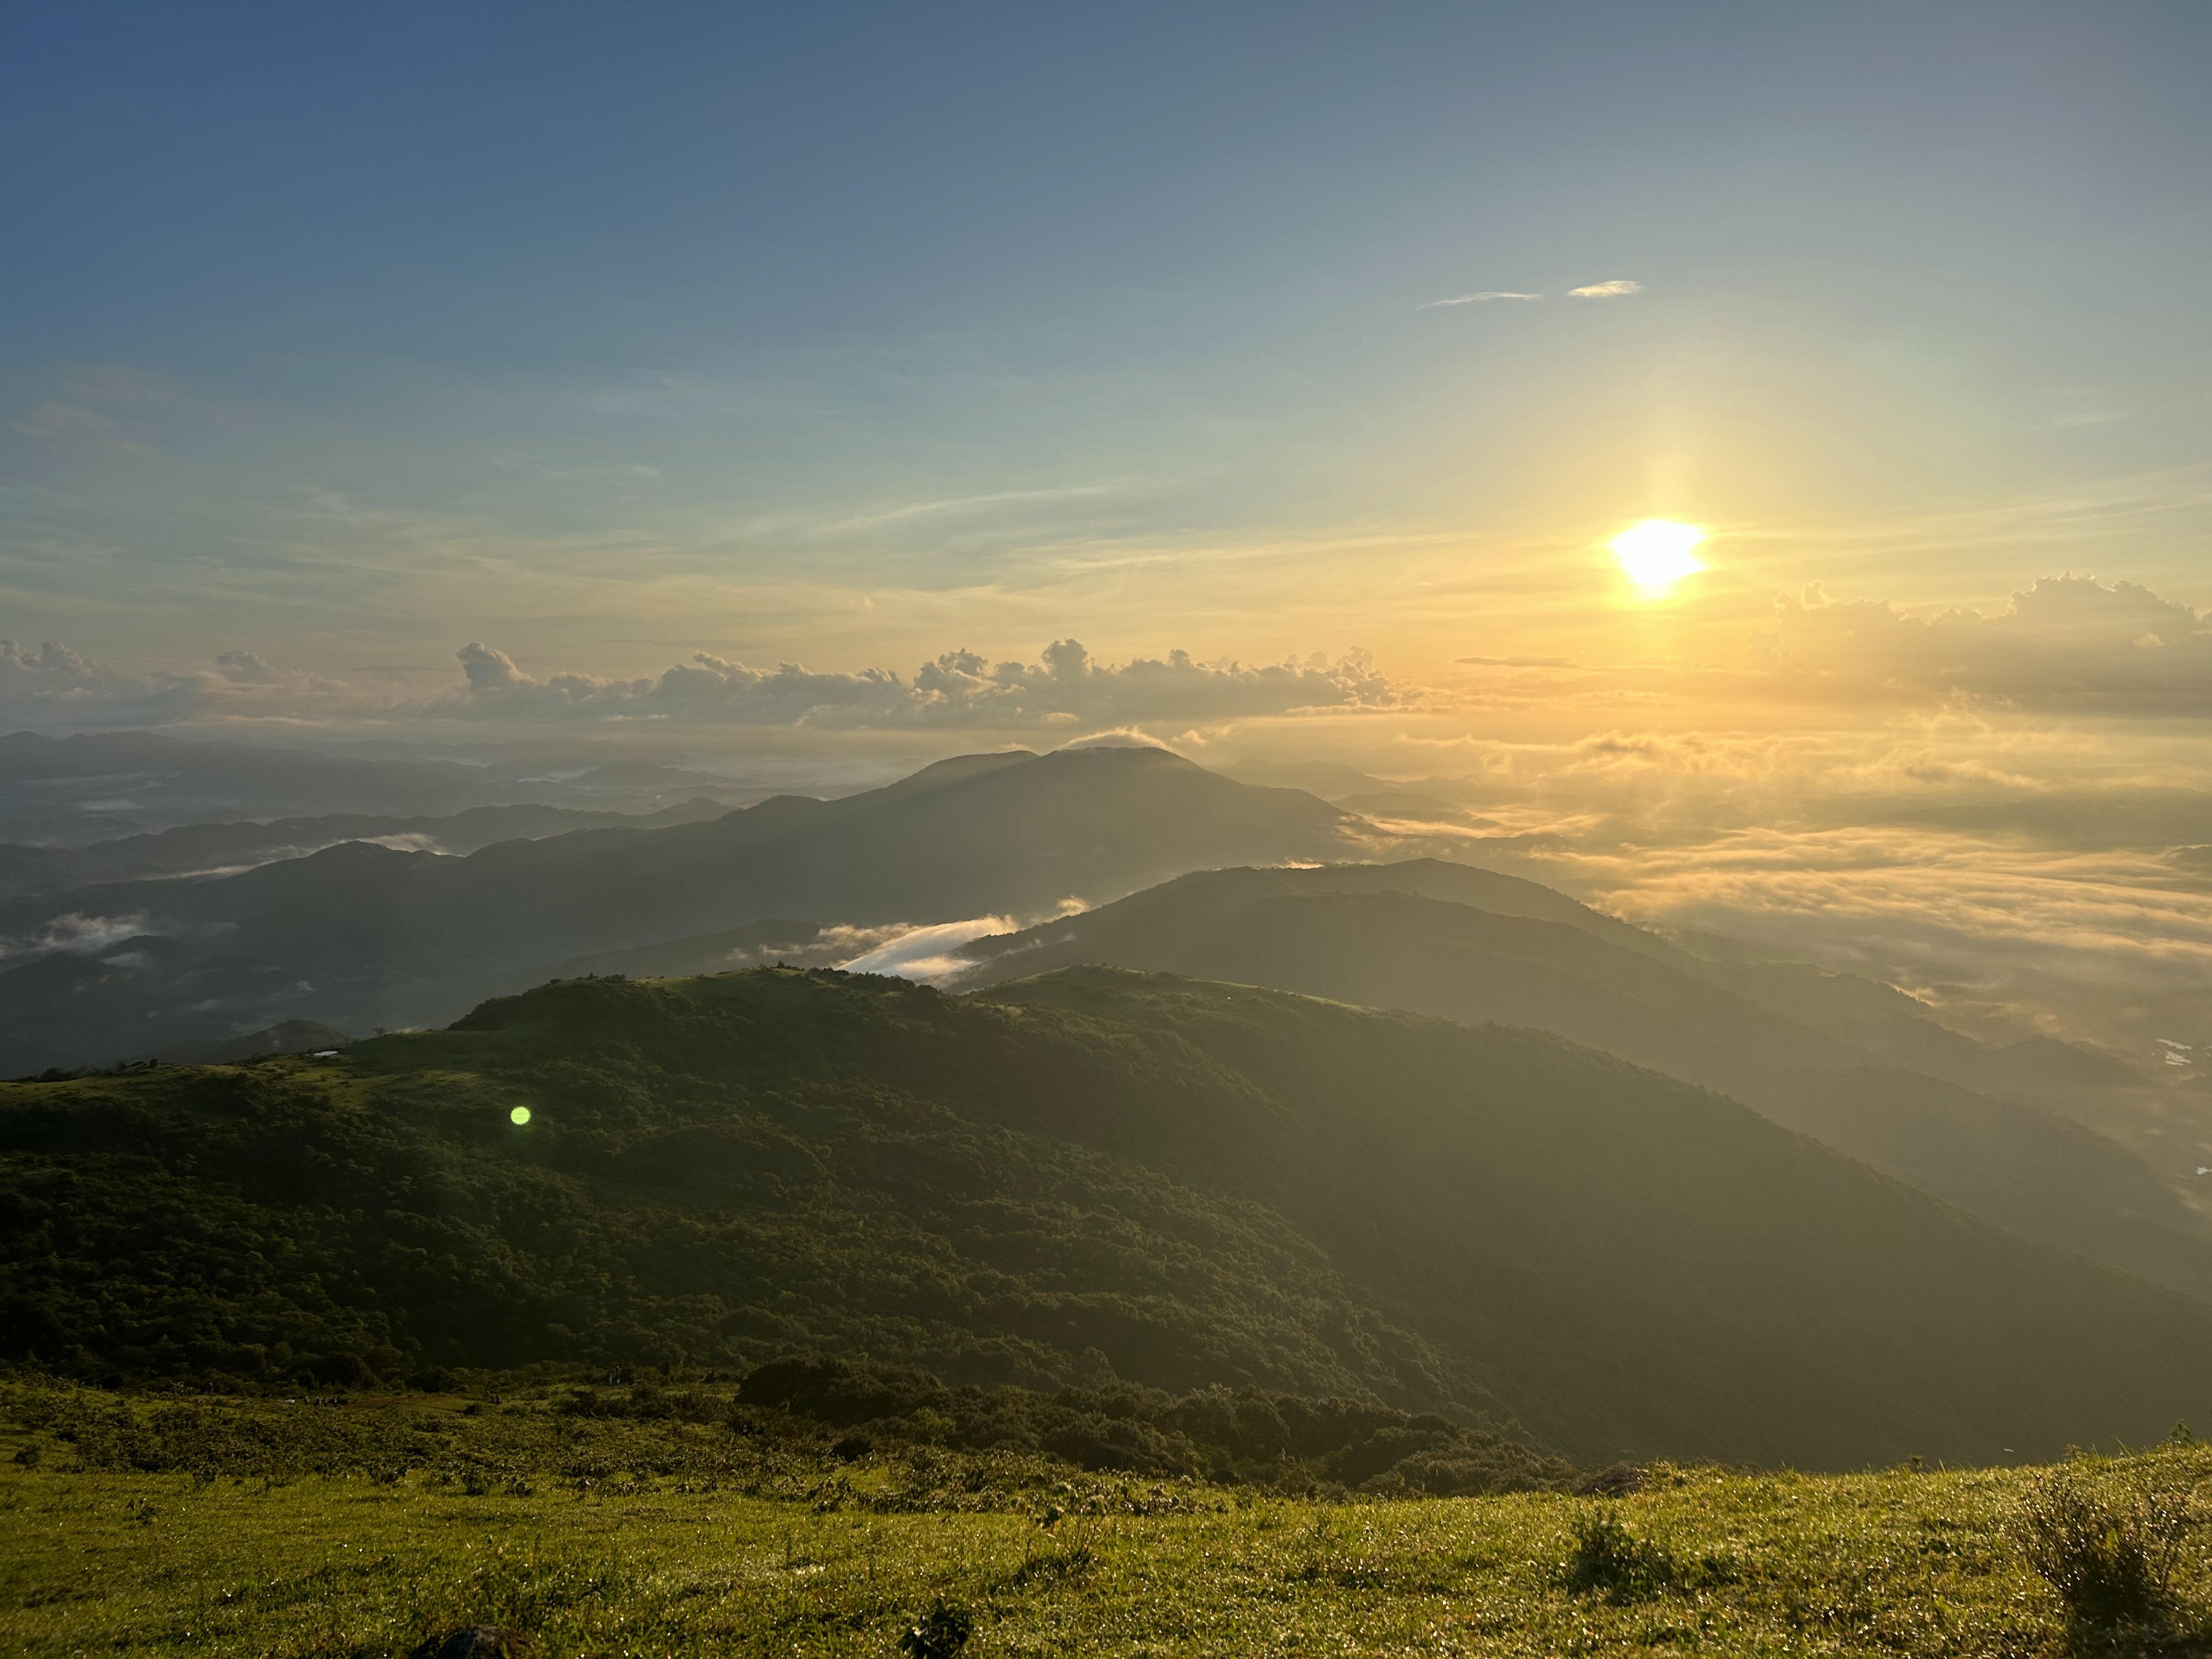
<instances>
[{"instance_id":1,"label":"entire cloud layer, full-width horizon band plus golden cloud sea at right","mask_svg":"<svg viewBox=\"0 0 2212 1659\"><path fill-rule=\"evenodd\" d=\"M1495 675L1542 703L1624 670L1469 657L1486 677L1453 690L1356 655L1099 661L1075 639L1033 661L940 653L911 675L712 653L639 679L533 675L476 641L456 657L456 686L400 697L243 650L128 675L0 646L0 726L650 732L701 752L876 732L907 754L1124 732L1210 761L1329 757L1398 790L1354 805L1383 821L1374 856L1520 869L1668 931L1907 987L1984 1035L2137 1057L2154 1037L2212 1042L2212 617L2128 582L2046 577L2004 606L1927 615L1783 597L1756 661L1708 690L1770 714L1787 695L1785 719L1730 726L1688 701L1694 686L1670 706L1648 692L1659 675L1628 681L1650 701L1626 719L1562 739L1517 728Z\"/></svg>"}]
</instances>

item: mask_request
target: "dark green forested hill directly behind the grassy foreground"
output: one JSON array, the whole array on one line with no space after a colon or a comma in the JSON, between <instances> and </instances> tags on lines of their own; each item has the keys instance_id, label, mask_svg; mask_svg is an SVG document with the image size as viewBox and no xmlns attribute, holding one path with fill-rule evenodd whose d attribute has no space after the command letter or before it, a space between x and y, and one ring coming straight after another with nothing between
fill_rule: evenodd
<instances>
[{"instance_id":1,"label":"dark green forested hill directly behind the grassy foreground","mask_svg":"<svg viewBox=\"0 0 2212 1659\"><path fill-rule=\"evenodd\" d=\"M1712 1093L1110 969L575 980L330 1060L7 1084L0 1183L4 1358L80 1376L830 1352L1825 1467L2212 1405L2205 1305Z\"/></svg>"}]
</instances>

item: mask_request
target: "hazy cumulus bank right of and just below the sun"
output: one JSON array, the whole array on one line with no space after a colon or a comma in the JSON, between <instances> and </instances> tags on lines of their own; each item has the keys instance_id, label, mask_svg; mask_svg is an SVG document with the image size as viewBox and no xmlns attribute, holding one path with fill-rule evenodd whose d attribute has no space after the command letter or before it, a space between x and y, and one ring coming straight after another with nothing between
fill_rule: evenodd
<instances>
[{"instance_id":1,"label":"hazy cumulus bank right of and just below the sun","mask_svg":"<svg viewBox=\"0 0 2212 1659\"><path fill-rule=\"evenodd\" d=\"M1997 615L1933 617L1812 588L1783 597L1774 622L1772 666L1807 688L2212 714L2212 615L2132 582L2044 577Z\"/></svg>"}]
</instances>

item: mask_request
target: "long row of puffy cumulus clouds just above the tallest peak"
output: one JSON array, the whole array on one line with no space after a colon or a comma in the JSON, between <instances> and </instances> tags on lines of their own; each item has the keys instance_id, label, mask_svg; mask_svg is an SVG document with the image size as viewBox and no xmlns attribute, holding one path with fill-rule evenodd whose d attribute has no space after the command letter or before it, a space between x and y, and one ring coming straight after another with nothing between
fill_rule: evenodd
<instances>
[{"instance_id":1,"label":"long row of puffy cumulus clouds just above the tallest peak","mask_svg":"<svg viewBox=\"0 0 2212 1659\"><path fill-rule=\"evenodd\" d=\"M504 653L476 641L462 646L460 666L467 690L438 712L838 728L1139 726L1418 701L1365 655L1248 666L1197 661L1175 650L1102 664L1077 639L1055 639L1033 664L993 664L971 650L947 650L911 679L883 668L748 668L703 650L655 679L535 679Z\"/></svg>"}]
</instances>

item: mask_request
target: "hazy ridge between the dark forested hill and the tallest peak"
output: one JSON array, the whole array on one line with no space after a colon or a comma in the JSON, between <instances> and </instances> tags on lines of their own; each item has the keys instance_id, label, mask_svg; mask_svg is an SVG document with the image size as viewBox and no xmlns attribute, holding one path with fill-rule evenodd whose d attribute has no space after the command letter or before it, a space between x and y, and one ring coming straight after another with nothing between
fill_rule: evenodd
<instances>
[{"instance_id":1,"label":"hazy ridge between the dark forested hill and the tallest peak","mask_svg":"<svg viewBox=\"0 0 2212 1659\"><path fill-rule=\"evenodd\" d=\"M1887 987L1701 962L1515 876L1433 860L1201 872L964 953L978 967L962 989L1104 962L1553 1031L1730 1093L2002 1228L2212 1298L2199 1214L2115 1141L2008 1099L2011 1051L1909 1020Z\"/></svg>"}]
</instances>

